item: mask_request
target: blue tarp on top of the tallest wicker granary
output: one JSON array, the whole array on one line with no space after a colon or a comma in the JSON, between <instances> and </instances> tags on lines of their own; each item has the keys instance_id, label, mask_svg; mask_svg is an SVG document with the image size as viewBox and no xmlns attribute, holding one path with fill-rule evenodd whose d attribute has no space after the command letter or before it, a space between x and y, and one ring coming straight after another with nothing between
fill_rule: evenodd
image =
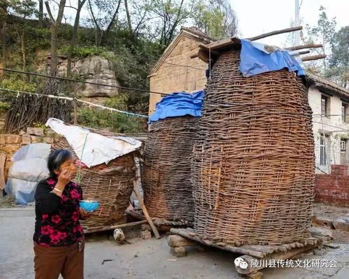
<instances>
[{"instance_id":1,"label":"blue tarp on top of the tallest wicker granary","mask_svg":"<svg viewBox=\"0 0 349 279\"><path fill-rule=\"evenodd\" d=\"M268 52L265 45L241 40L242 50L240 54L240 68L244 77L251 77L260 73L271 72L288 68L297 75L305 75L300 59L287 50L274 50Z\"/></svg>"}]
</instances>

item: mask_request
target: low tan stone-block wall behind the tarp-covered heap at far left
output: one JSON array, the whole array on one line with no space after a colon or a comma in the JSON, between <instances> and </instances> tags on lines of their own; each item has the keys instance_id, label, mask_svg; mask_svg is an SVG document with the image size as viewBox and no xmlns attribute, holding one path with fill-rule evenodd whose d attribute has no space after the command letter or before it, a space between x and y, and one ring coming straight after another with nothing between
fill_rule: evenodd
<instances>
[{"instance_id":1,"label":"low tan stone-block wall behind the tarp-covered heap at far left","mask_svg":"<svg viewBox=\"0 0 349 279\"><path fill-rule=\"evenodd\" d=\"M20 149L22 146L27 144L34 144L34 143L47 143L47 144L53 144L55 140L58 140L59 136L57 135L7 135L7 134L0 134L0 153L6 154L6 164L5 164L5 179L7 179L7 173L8 169L10 168L10 165L12 164L11 158L13 154Z\"/></svg>"}]
</instances>

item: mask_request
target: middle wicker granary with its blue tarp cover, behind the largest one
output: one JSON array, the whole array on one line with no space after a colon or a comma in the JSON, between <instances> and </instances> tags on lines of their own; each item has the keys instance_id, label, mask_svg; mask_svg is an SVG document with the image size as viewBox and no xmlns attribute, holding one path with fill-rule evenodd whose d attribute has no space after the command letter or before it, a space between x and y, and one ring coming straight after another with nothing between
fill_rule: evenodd
<instances>
[{"instance_id":1,"label":"middle wicker granary with its blue tarp cover, behind the largest one","mask_svg":"<svg viewBox=\"0 0 349 279\"><path fill-rule=\"evenodd\" d=\"M156 105L142 163L149 215L170 221L194 218L191 159L201 114L202 91L174 93Z\"/></svg>"}]
</instances>

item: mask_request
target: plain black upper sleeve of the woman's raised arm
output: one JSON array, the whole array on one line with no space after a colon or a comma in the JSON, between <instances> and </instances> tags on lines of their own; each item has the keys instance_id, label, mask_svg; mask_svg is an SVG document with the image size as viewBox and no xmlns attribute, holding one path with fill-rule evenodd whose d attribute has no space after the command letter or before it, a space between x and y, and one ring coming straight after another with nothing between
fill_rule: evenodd
<instances>
[{"instance_id":1,"label":"plain black upper sleeve of the woman's raised arm","mask_svg":"<svg viewBox=\"0 0 349 279\"><path fill-rule=\"evenodd\" d=\"M57 211L61 197L51 193L50 186L45 181L40 181L36 187L35 202L41 213L51 214Z\"/></svg>"}]
</instances>

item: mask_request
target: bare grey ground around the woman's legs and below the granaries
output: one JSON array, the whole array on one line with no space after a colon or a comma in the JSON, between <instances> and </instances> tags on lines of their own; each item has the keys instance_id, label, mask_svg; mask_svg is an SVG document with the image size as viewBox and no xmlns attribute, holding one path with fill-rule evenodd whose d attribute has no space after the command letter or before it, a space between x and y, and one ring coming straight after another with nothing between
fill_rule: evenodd
<instances>
[{"instance_id":1,"label":"bare grey ground around the woman's legs and below the granaries","mask_svg":"<svg viewBox=\"0 0 349 279\"><path fill-rule=\"evenodd\" d=\"M34 278L32 234L34 209L0 209L0 279ZM205 248L176 258L170 253L167 237L142 240L139 231L126 232L131 244L119 245L111 234L87 237L85 278L96 279L236 279L234 259L239 255ZM349 238L334 248L323 247L302 255L302 260L334 260L332 268L269 268L267 279L348 279Z\"/></svg>"}]
</instances>

